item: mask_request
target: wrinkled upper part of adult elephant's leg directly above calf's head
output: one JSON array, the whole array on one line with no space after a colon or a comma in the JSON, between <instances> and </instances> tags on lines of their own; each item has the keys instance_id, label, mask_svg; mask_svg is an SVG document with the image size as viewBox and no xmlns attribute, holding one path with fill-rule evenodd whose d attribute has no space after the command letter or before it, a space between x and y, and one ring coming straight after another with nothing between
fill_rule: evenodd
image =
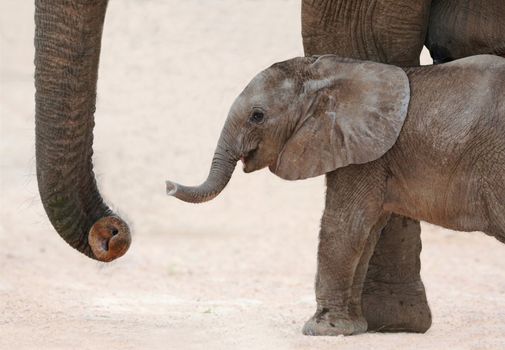
<instances>
[{"instance_id":1,"label":"wrinkled upper part of adult elephant's leg directly above calf's head","mask_svg":"<svg viewBox=\"0 0 505 350\"><path fill-rule=\"evenodd\" d=\"M305 53L418 66L430 3L431 0L303 0Z\"/></svg>"}]
</instances>

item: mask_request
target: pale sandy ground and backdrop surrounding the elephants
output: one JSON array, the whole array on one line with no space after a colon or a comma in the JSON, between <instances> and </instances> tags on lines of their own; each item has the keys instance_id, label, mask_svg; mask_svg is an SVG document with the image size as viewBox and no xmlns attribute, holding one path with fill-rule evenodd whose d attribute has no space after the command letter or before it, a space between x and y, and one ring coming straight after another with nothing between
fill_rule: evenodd
<instances>
[{"instance_id":1,"label":"pale sandy ground and backdrop surrounding the elephants","mask_svg":"<svg viewBox=\"0 0 505 350\"><path fill-rule=\"evenodd\" d=\"M34 170L33 4L1 0L0 349L499 349L505 247L423 225L424 335L313 338L323 178L237 171L194 206L164 180L204 179L234 97L302 55L298 1L112 0L95 166L134 242L105 265L52 230Z\"/></svg>"}]
</instances>

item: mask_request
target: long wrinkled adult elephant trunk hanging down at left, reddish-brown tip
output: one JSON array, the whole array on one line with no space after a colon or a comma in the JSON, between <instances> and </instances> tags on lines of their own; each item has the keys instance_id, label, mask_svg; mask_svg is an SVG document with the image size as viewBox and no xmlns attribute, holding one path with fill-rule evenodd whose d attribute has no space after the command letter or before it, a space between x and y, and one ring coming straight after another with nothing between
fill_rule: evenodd
<instances>
[{"instance_id":1,"label":"long wrinkled adult elephant trunk hanging down at left, reddish-brown tip","mask_svg":"<svg viewBox=\"0 0 505 350\"><path fill-rule=\"evenodd\" d=\"M37 180L52 225L72 247L111 261L131 242L103 202L92 165L98 60L107 0L35 0Z\"/></svg>"}]
</instances>

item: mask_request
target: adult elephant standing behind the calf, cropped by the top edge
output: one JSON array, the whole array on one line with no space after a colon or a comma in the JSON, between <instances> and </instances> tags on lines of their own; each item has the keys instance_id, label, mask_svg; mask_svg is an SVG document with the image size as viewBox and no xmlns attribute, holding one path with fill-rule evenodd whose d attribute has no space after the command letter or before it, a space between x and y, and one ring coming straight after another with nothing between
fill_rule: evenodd
<instances>
[{"instance_id":1,"label":"adult elephant standing behind the calf, cropped by the top edge","mask_svg":"<svg viewBox=\"0 0 505 350\"><path fill-rule=\"evenodd\" d=\"M435 63L505 54L502 0L302 0L306 55L336 54L417 66L424 44ZM408 191L408 189L405 189ZM418 221L393 215L363 288L369 330L425 332L431 312L420 277Z\"/></svg>"}]
</instances>

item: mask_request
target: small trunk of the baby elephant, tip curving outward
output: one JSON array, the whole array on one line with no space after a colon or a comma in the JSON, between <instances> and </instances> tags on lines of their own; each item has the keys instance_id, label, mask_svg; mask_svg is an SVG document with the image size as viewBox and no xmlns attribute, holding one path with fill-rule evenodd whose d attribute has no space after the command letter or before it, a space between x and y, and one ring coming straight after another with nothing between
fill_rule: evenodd
<instances>
[{"instance_id":1,"label":"small trunk of the baby elephant, tip curving outward","mask_svg":"<svg viewBox=\"0 0 505 350\"><path fill-rule=\"evenodd\" d=\"M167 194L189 203L202 203L215 198L225 188L240 158L240 152L230 135L231 121L228 119L217 143L209 175L200 186L183 186L167 181Z\"/></svg>"}]
</instances>

